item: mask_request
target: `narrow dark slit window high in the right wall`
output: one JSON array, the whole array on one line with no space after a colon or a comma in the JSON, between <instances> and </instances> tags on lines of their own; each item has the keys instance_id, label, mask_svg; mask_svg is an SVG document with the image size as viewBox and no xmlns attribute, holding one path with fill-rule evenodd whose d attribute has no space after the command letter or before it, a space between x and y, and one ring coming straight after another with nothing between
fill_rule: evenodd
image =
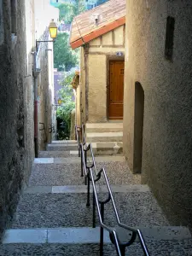
<instances>
[{"instance_id":1,"label":"narrow dark slit window high in the right wall","mask_svg":"<svg viewBox=\"0 0 192 256\"><path fill-rule=\"evenodd\" d=\"M175 19L168 16L166 19L166 48L165 56L166 59L172 61L173 54L173 40L174 40L174 29L175 29Z\"/></svg>"}]
</instances>

